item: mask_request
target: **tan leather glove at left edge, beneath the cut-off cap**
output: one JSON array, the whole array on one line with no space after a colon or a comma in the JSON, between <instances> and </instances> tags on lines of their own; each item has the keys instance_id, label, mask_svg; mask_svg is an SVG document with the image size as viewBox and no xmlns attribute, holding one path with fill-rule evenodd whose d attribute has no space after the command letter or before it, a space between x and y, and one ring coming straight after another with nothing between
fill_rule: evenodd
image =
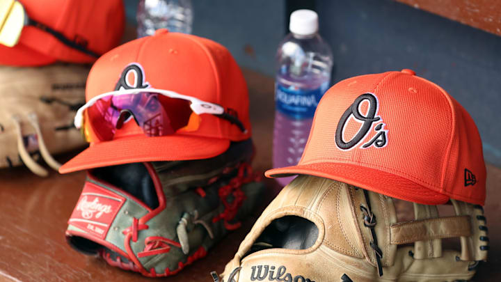
<instances>
[{"instance_id":1,"label":"tan leather glove at left edge, beneath the cut-off cap","mask_svg":"<svg viewBox=\"0 0 501 282\"><path fill-rule=\"evenodd\" d=\"M26 165L46 176L42 159L85 145L73 118L85 103L89 67L58 63L39 68L0 66L0 168Z\"/></svg>"}]
</instances>

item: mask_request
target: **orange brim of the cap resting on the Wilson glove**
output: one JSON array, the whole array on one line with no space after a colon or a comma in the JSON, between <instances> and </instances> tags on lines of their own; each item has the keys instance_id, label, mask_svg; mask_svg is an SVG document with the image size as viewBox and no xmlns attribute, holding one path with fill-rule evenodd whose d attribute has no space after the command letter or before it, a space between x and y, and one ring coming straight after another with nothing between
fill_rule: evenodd
<instances>
[{"instance_id":1,"label":"orange brim of the cap resting on the Wilson glove","mask_svg":"<svg viewBox=\"0 0 501 282\"><path fill-rule=\"evenodd\" d=\"M270 169L264 173L269 178L281 178L296 174L329 178L393 198L424 205L439 205L449 201L448 196L439 194L406 178L353 164L328 162L303 164L281 169Z\"/></svg>"}]
</instances>

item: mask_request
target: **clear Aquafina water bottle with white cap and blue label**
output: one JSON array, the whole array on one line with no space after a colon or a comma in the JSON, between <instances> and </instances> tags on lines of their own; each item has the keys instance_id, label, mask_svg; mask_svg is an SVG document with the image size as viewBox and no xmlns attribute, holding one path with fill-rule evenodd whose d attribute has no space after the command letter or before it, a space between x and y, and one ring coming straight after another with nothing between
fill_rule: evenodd
<instances>
[{"instance_id":1,"label":"clear Aquafina water bottle with white cap and blue label","mask_svg":"<svg viewBox=\"0 0 501 282\"><path fill-rule=\"evenodd\" d=\"M308 141L317 104L331 82L331 48L318 34L318 15L296 10L276 55L273 167L294 166ZM294 177L277 178L287 185Z\"/></svg>"}]
</instances>

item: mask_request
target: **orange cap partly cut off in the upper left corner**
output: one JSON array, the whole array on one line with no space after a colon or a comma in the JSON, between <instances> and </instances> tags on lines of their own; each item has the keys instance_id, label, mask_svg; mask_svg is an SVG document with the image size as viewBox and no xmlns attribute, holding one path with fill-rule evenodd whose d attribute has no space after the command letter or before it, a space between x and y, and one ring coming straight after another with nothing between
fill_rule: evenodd
<instances>
[{"instance_id":1,"label":"orange cap partly cut off in the upper left corner","mask_svg":"<svg viewBox=\"0 0 501 282\"><path fill-rule=\"evenodd\" d=\"M26 15L73 43L104 54L120 43L125 26L122 0L19 0ZM8 8L8 7L2 7ZM68 47L43 28L26 25L14 47L0 45L0 64L92 63L97 58Z\"/></svg>"}]
</instances>

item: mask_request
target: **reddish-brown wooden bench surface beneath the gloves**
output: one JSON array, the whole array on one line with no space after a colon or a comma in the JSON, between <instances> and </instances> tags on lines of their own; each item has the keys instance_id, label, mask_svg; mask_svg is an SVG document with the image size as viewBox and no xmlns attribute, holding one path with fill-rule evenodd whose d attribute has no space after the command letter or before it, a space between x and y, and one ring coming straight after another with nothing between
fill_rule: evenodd
<instances>
[{"instance_id":1,"label":"reddish-brown wooden bench surface beneath the gloves","mask_svg":"<svg viewBox=\"0 0 501 282\"><path fill-rule=\"evenodd\" d=\"M248 70L244 70L244 75L250 90L250 119L257 148L253 165L256 170L264 171L271 166L273 79ZM59 160L64 162L70 157L66 155ZM242 228L216 245L207 257L179 274L148 279L110 267L100 258L77 253L65 242L67 219L77 203L84 178L83 172L68 175L52 172L49 178L38 178L22 167L0 170L0 281L211 281L209 272L223 272L262 211L261 208ZM264 181L269 190L263 207L280 189L274 180L264 178ZM501 279L501 224L497 217L501 213L500 183L501 169L488 166L485 210L491 252L488 263L479 267L475 281ZM412 213L412 210L399 211Z\"/></svg>"}]
</instances>

